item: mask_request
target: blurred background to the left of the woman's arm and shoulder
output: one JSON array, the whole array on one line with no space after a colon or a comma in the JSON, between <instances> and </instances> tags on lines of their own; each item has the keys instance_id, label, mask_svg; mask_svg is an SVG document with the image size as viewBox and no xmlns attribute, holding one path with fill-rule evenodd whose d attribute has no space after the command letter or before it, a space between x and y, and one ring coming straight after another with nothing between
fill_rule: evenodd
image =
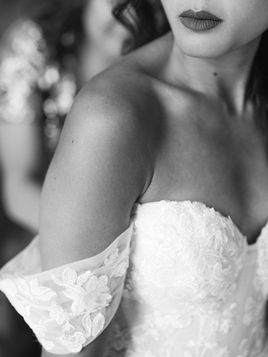
<instances>
[{"instance_id":1,"label":"blurred background to the left of the woman's arm and shoulder","mask_svg":"<svg viewBox=\"0 0 268 357\"><path fill-rule=\"evenodd\" d=\"M0 267L38 233L46 170L76 93L131 41L113 0L0 0ZM0 357L40 346L0 292Z\"/></svg>"}]
</instances>

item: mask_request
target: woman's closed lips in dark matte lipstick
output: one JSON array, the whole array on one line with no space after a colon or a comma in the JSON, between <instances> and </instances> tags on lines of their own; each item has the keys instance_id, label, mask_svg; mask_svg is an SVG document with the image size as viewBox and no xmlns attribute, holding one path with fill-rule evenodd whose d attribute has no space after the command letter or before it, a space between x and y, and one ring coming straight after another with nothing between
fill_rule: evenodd
<instances>
[{"instance_id":1,"label":"woman's closed lips in dark matte lipstick","mask_svg":"<svg viewBox=\"0 0 268 357\"><path fill-rule=\"evenodd\" d=\"M182 24L193 31L207 31L223 22L217 16L203 10L197 12L187 10L182 12L179 17Z\"/></svg>"}]
</instances>

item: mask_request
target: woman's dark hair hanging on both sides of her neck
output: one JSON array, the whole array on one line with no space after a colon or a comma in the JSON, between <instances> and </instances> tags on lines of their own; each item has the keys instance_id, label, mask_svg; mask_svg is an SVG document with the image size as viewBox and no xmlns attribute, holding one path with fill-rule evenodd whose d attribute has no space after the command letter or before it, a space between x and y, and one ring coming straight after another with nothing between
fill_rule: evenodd
<instances>
[{"instance_id":1,"label":"woman's dark hair hanging on both sides of her neck","mask_svg":"<svg viewBox=\"0 0 268 357\"><path fill-rule=\"evenodd\" d=\"M170 30L160 0L123 0L116 4L113 14L132 33L133 40L125 51L133 50L164 35ZM258 124L268 132L268 30L260 41L249 75L246 99L262 111L264 122Z\"/></svg>"}]
</instances>

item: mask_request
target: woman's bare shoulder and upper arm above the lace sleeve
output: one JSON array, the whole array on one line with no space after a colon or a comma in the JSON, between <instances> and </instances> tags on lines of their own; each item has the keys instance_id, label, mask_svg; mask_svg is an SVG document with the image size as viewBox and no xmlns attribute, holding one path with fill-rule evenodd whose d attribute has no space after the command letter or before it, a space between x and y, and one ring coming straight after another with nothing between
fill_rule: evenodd
<instances>
[{"instance_id":1,"label":"woman's bare shoulder and upper arm above the lace sleeve","mask_svg":"<svg viewBox=\"0 0 268 357\"><path fill-rule=\"evenodd\" d=\"M167 44L133 52L76 97L42 190L44 269L94 256L128 228L161 142L164 115L149 70L161 66Z\"/></svg>"}]
</instances>

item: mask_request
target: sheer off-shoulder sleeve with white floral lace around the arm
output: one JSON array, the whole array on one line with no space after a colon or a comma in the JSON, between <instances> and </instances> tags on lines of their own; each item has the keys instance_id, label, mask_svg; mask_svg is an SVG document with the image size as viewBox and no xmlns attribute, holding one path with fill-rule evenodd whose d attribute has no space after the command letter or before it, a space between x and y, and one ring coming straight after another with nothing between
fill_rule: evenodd
<instances>
[{"instance_id":1,"label":"sheer off-shoulder sleeve with white floral lace around the arm","mask_svg":"<svg viewBox=\"0 0 268 357\"><path fill-rule=\"evenodd\" d=\"M103 252L41 272L39 237L0 270L0 290L46 351L78 353L119 306L133 224Z\"/></svg>"}]
</instances>

